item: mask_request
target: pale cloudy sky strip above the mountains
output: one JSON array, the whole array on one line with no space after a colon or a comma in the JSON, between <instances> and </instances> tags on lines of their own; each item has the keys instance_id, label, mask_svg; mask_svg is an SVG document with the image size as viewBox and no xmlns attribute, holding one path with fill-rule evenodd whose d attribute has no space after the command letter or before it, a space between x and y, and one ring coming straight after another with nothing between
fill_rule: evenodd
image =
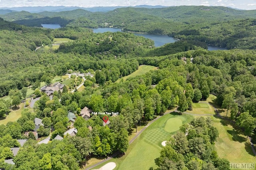
<instances>
[{"instance_id":1,"label":"pale cloudy sky strip above the mountains","mask_svg":"<svg viewBox=\"0 0 256 170\"><path fill-rule=\"evenodd\" d=\"M0 0L0 8L22 6L137 6L137 5L203 5L227 6L243 10L256 10L256 0Z\"/></svg>"}]
</instances>

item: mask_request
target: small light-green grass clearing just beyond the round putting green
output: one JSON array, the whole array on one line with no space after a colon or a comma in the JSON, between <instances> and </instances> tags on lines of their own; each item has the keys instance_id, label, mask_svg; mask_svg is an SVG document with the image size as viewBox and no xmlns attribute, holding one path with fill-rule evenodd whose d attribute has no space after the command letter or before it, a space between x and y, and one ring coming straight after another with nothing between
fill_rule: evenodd
<instances>
[{"instance_id":1,"label":"small light-green grass clearing just beyond the round putting green","mask_svg":"<svg viewBox=\"0 0 256 170\"><path fill-rule=\"evenodd\" d=\"M187 110L186 112L188 113L194 113L194 114L199 114L199 115L204 115L204 114L212 114L214 115L214 108L210 106L207 103L204 102L198 102L198 103L193 103L192 104L193 110Z\"/></svg>"}]
</instances>

